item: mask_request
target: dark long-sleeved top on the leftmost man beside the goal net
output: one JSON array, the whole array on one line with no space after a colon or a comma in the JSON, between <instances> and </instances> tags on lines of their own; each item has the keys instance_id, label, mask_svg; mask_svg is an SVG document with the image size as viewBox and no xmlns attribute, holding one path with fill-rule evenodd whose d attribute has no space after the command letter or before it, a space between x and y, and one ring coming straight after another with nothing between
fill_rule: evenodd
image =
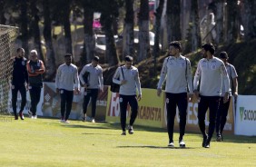
<instances>
[{"instance_id":1,"label":"dark long-sleeved top on the leftmost man beside the goal net","mask_svg":"<svg viewBox=\"0 0 256 167\"><path fill-rule=\"evenodd\" d=\"M13 70L13 79L12 79L12 85L20 86L26 83L28 83L28 74L26 70L26 62L27 59L25 57L14 59L14 70Z\"/></svg>"}]
</instances>

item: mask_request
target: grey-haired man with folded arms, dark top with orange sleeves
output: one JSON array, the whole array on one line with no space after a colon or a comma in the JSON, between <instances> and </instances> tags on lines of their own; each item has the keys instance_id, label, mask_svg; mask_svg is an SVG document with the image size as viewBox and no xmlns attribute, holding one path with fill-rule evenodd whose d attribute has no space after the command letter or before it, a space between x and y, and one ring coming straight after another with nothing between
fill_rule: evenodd
<instances>
[{"instance_id":1,"label":"grey-haired man with folded arms, dark top with orange sleeves","mask_svg":"<svg viewBox=\"0 0 256 167\"><path fill-rule=\"evenodd\" d=\"M26 64L28 73L28 89L31 98L32 119L36 119L36 106L40 101L41 88L43 87L43 76L45 72L44 63L38 60L36 50L30 52L30 61Z\"/></svg>"}]
</instances>

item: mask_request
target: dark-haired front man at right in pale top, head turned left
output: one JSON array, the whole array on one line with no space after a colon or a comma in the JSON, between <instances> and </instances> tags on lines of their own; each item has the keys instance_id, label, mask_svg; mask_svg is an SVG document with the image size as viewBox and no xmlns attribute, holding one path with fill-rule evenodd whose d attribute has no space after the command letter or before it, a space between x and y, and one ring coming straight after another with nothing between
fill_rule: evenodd
<instances>
[{"instance_id":1,"label":"dark-haired front man at right in pale top, head turned left","mask_svg":"<svg viewBox=\"0 0 256 167\"><path fill-rule=\"evenodd\" d=\"M221 59L213 56L215 47L213 44L202 45L202 59L197 64L196 73L193 80L194 95L198 103L198 124L202 133L202 147L210 148L212 134L214 133L216 123L216 113L221 99L222 92L223 103L228 102L230 81ZM200 89L198 91L199 80ZM222 91L223 82L223 91ZM209 129L208 134L205 131L205 114L209 108Z\"/></svg>"}]
</instances>

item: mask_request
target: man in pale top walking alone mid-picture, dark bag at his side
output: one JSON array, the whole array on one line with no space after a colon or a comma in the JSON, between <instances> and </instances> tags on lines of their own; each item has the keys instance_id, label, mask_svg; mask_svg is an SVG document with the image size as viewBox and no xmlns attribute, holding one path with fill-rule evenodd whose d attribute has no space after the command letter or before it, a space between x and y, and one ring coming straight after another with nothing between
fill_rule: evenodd
<instances>
[{"instance_id":1,"label":"man in pale top walking alone mid-picture, dark bag at his side","mask_svg":"<svg viewBox=\"0 0 256 167\"><path fill-rule=\"evenodd\" d=\"M120 84L120 122L123 130L121 135L126 135L125 125L127 104L129 103L132 108L131 119L128 125L128 133L133 134L133 123L135 122L138 113L138 101L142 98L139 71L133 66L133 57L127 55L124 60L125 64L118 67L115 74L113 74L113 83ZM138 90L138 97L136 95L136 90Z\"/></svg>"}]
</instances>

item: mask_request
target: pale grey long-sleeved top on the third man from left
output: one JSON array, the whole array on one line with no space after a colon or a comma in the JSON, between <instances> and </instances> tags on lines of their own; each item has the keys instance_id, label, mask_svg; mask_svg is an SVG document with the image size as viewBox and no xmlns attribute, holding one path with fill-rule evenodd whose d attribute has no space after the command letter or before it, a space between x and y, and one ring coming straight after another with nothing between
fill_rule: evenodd
<instances>
[{"instance_id":1,"label":"pale grey long-sleeved top on the third man from left","mask_svg":"<svg viewBox=\"0 0 256 167\"><path fill-rule=\"evenodd\" d=\"M74 64L62 64L59 66L55 78L55 86L58 89L74 91L79 88L78 70Z\"/></svg>"}]
</instances>

